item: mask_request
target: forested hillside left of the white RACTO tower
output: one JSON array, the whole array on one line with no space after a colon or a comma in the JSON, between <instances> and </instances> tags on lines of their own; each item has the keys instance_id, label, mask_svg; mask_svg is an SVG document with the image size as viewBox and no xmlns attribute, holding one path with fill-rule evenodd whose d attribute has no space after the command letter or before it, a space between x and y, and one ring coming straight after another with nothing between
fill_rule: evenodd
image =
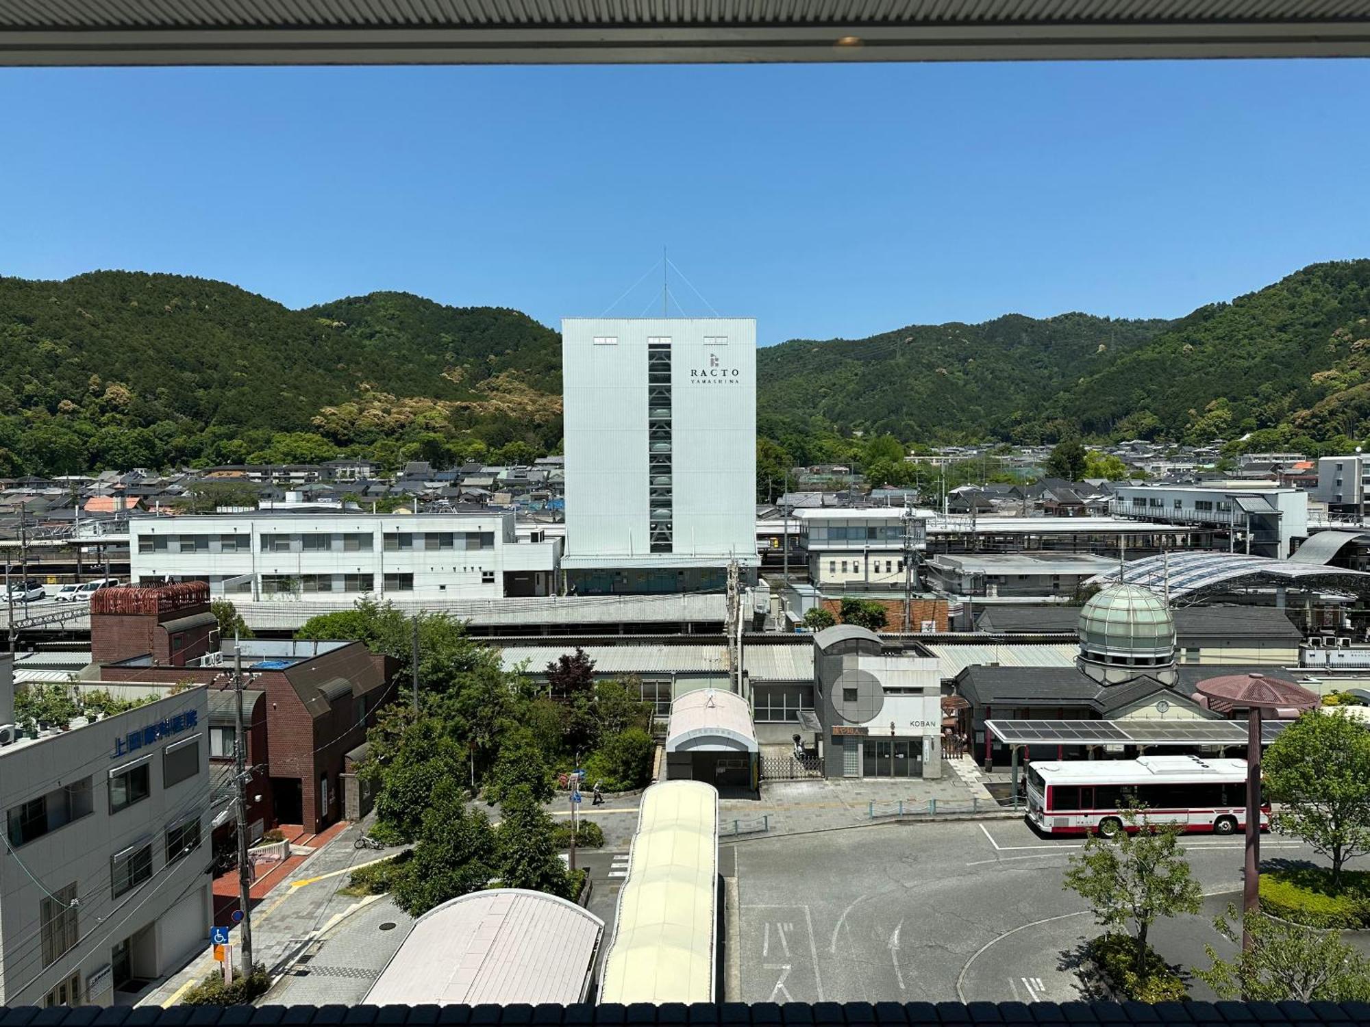
<instances>
[{"instance_id":1,"label":"forested hillside left of the white RACTO tower","mask_svg":"<svg viewBox=\"0 0 1370 1027\"><path fill-rule=\"evenodd\" d=\"M559 362L523 314L406 293L292 311L182 275L0 278L0 475L545 452Z\"/></svg>"}]
</instances>

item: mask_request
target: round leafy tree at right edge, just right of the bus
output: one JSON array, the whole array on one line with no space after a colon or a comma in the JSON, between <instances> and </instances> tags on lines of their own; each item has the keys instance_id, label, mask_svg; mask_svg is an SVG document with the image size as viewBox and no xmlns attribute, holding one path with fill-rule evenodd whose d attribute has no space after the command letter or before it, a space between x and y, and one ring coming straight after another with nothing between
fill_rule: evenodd
<instances>
[{"instance_id":1,"label":"round leafy tree at right edge, just right of the bus","mask_svg":"<svg viewBox=\"0 0 1370 1027\"><path fill-rule=\"evenodd\" d=\"M1265 787L1282 802L1274 827L1332 860L1332 886L1352 856L1370 852L1370 730L1337 712L1289 724L1262 760Z\"/></svg>"}]
</instances>

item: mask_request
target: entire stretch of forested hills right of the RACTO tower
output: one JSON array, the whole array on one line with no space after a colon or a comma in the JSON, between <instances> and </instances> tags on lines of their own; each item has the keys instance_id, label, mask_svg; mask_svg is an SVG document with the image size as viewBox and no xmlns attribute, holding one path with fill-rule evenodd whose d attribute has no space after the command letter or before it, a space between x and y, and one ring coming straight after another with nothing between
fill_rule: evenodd
<instances>
[{"instance_id":1,"label":"entire stretch of forested hills right of the RACTO tower","mask_svg":"<svg viewBox=\"0 0 1370 1027\"><path fill-rule=\"evenodd\" d=\"M1174 322L1011 315L785 342L760 351L758 374L762 433L808 463L854 430L904 442L1251 433L1241 448L1336 449L1370 419L1370 260L1311 264Z\"/></svg>"}]
</instances>

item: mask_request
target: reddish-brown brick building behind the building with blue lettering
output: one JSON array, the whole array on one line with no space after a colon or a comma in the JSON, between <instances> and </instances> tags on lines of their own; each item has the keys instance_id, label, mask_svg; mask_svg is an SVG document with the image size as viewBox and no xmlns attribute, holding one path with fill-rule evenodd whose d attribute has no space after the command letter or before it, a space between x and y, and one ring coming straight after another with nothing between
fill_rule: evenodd
<instances>
[{"instance_id":1,"label":"reddish-brown brick building behind the building with blue lettering","mask_svg":"<svg viewBox=\"0 0 1370 1027\"><path fill-rule=\"evenodd\" d=\"M104 682L208 685L210 756L234 752L233 644L221 649L203 582L118 587L90 604L92 659ZM241 641L248 823L319 831L344 816L345 756L392 694L393 665L362 642ZM260 798L258 798L260 796Z\"/></svg>"}]
</instances>

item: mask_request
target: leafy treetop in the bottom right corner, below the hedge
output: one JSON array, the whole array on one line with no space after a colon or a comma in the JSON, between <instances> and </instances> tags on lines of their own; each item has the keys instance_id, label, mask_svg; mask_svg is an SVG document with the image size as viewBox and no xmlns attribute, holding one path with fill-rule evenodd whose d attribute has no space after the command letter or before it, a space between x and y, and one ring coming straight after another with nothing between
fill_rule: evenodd
<instances>
[{"instance_id":1,"label":"leafy treetop in the bottom right corner, below the hedge","mask_svg":"<svg viewBox=\"0 0 1370 1027\"><path fill-rule=\"evenodd\" d=\"M1237 954L1223 960L1207 945L1212 965L1195 972L1219 998L1370 1001L1370 963L1345 945L1337 931L1302 927L1263 913L1243 917L1233 905L1214 920L1214 927L1237 946ZM1243 949L1243 928L1251 938L1249 949Z\"/></svg>"}]
</instances>

